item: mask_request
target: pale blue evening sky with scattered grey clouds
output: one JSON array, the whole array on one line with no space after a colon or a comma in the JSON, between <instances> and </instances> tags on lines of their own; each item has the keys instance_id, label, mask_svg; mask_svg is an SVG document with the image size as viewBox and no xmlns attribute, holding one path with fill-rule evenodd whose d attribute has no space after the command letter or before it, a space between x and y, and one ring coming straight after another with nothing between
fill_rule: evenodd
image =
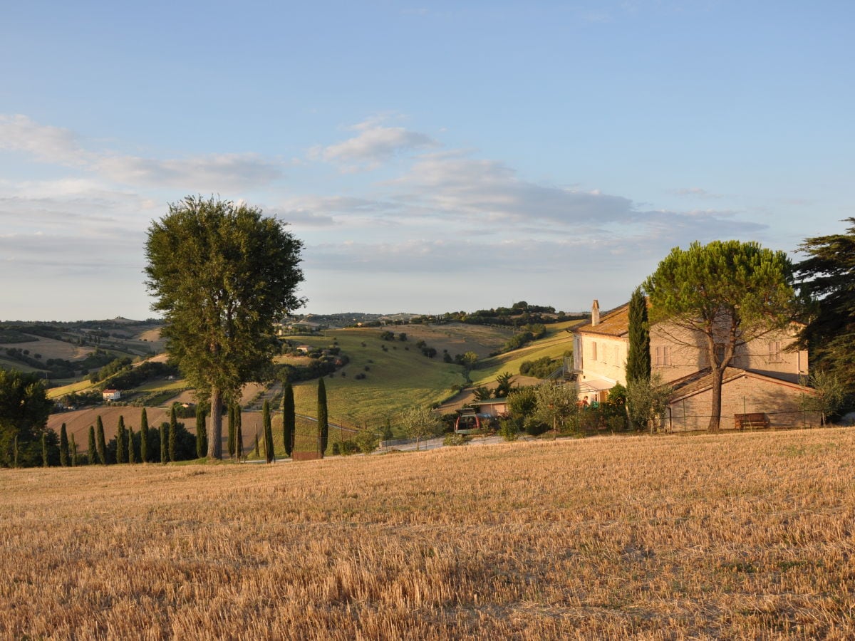
<instances>
[{"instance_id":1,"label":"pale blue evening sky with scattered grey clouds","mask_svg":"<svg viewBox=\"0 0 855 641\"><path fill-rule=\"evenodd\" d=\"M625 303L673 247L855 216L855 3L39 2L0 20L0 320L154 314L188 195L303 312Z\"/></svg>"}]
</instances>

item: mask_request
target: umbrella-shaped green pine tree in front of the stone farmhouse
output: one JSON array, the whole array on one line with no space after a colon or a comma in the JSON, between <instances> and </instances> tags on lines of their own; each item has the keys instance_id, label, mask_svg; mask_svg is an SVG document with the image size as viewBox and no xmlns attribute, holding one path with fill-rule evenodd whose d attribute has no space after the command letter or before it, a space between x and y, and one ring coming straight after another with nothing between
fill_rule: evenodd
<instances>
[{"instance_id":1,"label":"umbrella-shaped green pine tree in front of the stone farmhouse","mask_svg":"<svg viewBox=\"0 0 855 641\"><path fill-rule=\"evenodd\" d=\"M742 345L783 329L798 315L793 264L754 242L697 241L675 247L644 283L650 322L676 343L700 345L712 377L711 432L722 417L722 377ZM673 331L671 331L673 330Z\"/></svg>"}]
</instances>

